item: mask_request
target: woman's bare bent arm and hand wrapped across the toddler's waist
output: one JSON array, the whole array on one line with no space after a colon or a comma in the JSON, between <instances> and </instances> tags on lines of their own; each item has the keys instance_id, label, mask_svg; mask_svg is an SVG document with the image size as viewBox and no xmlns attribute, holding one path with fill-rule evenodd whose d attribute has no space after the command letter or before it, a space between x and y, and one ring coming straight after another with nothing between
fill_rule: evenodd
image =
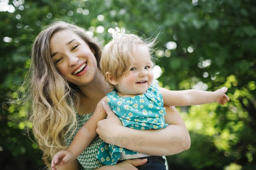
<instances>
[{"instance_id":1,"label":"woman's bare bent arm and hand wrapped across the toddler's waist","mask_svg":"<svg viewBox=\"0 0 256 170\"><path fill-rule=\"evenodd\" d=\"M105 111L108 118L98 122L96 131L106 143L155 156L174 155L190 147L189 132L175 107L166 107L170 125L159 130L124 127L107 105Z\"/></svg>"}]
</instances>

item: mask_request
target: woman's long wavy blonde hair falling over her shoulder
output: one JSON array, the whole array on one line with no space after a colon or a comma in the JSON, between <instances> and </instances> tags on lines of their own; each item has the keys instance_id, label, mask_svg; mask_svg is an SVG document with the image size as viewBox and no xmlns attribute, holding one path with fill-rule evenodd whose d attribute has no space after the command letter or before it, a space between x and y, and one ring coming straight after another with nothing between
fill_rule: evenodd
<instances>
[{"instance_id":1,"label":"woman's long wavy blonde hair falling over her shoulder","mask_svg":"<svg viewBox=\"0 0 256 170\"><path fill-rule=\"evenodd\" d=\"M52 156L67 148L67 140L76 130L76 105L79 102L77 87L67 82L55 68L50 54L50 38L61 30L79 35L95 52L99 63L101 48L85 30L63 21L55 21L41 31L32 48L32 63L21 87L23 100L32 102L29 120L43 160L49 167ZM22 90L22 91L23 91Z\"/></svg>"}]
</instances>

